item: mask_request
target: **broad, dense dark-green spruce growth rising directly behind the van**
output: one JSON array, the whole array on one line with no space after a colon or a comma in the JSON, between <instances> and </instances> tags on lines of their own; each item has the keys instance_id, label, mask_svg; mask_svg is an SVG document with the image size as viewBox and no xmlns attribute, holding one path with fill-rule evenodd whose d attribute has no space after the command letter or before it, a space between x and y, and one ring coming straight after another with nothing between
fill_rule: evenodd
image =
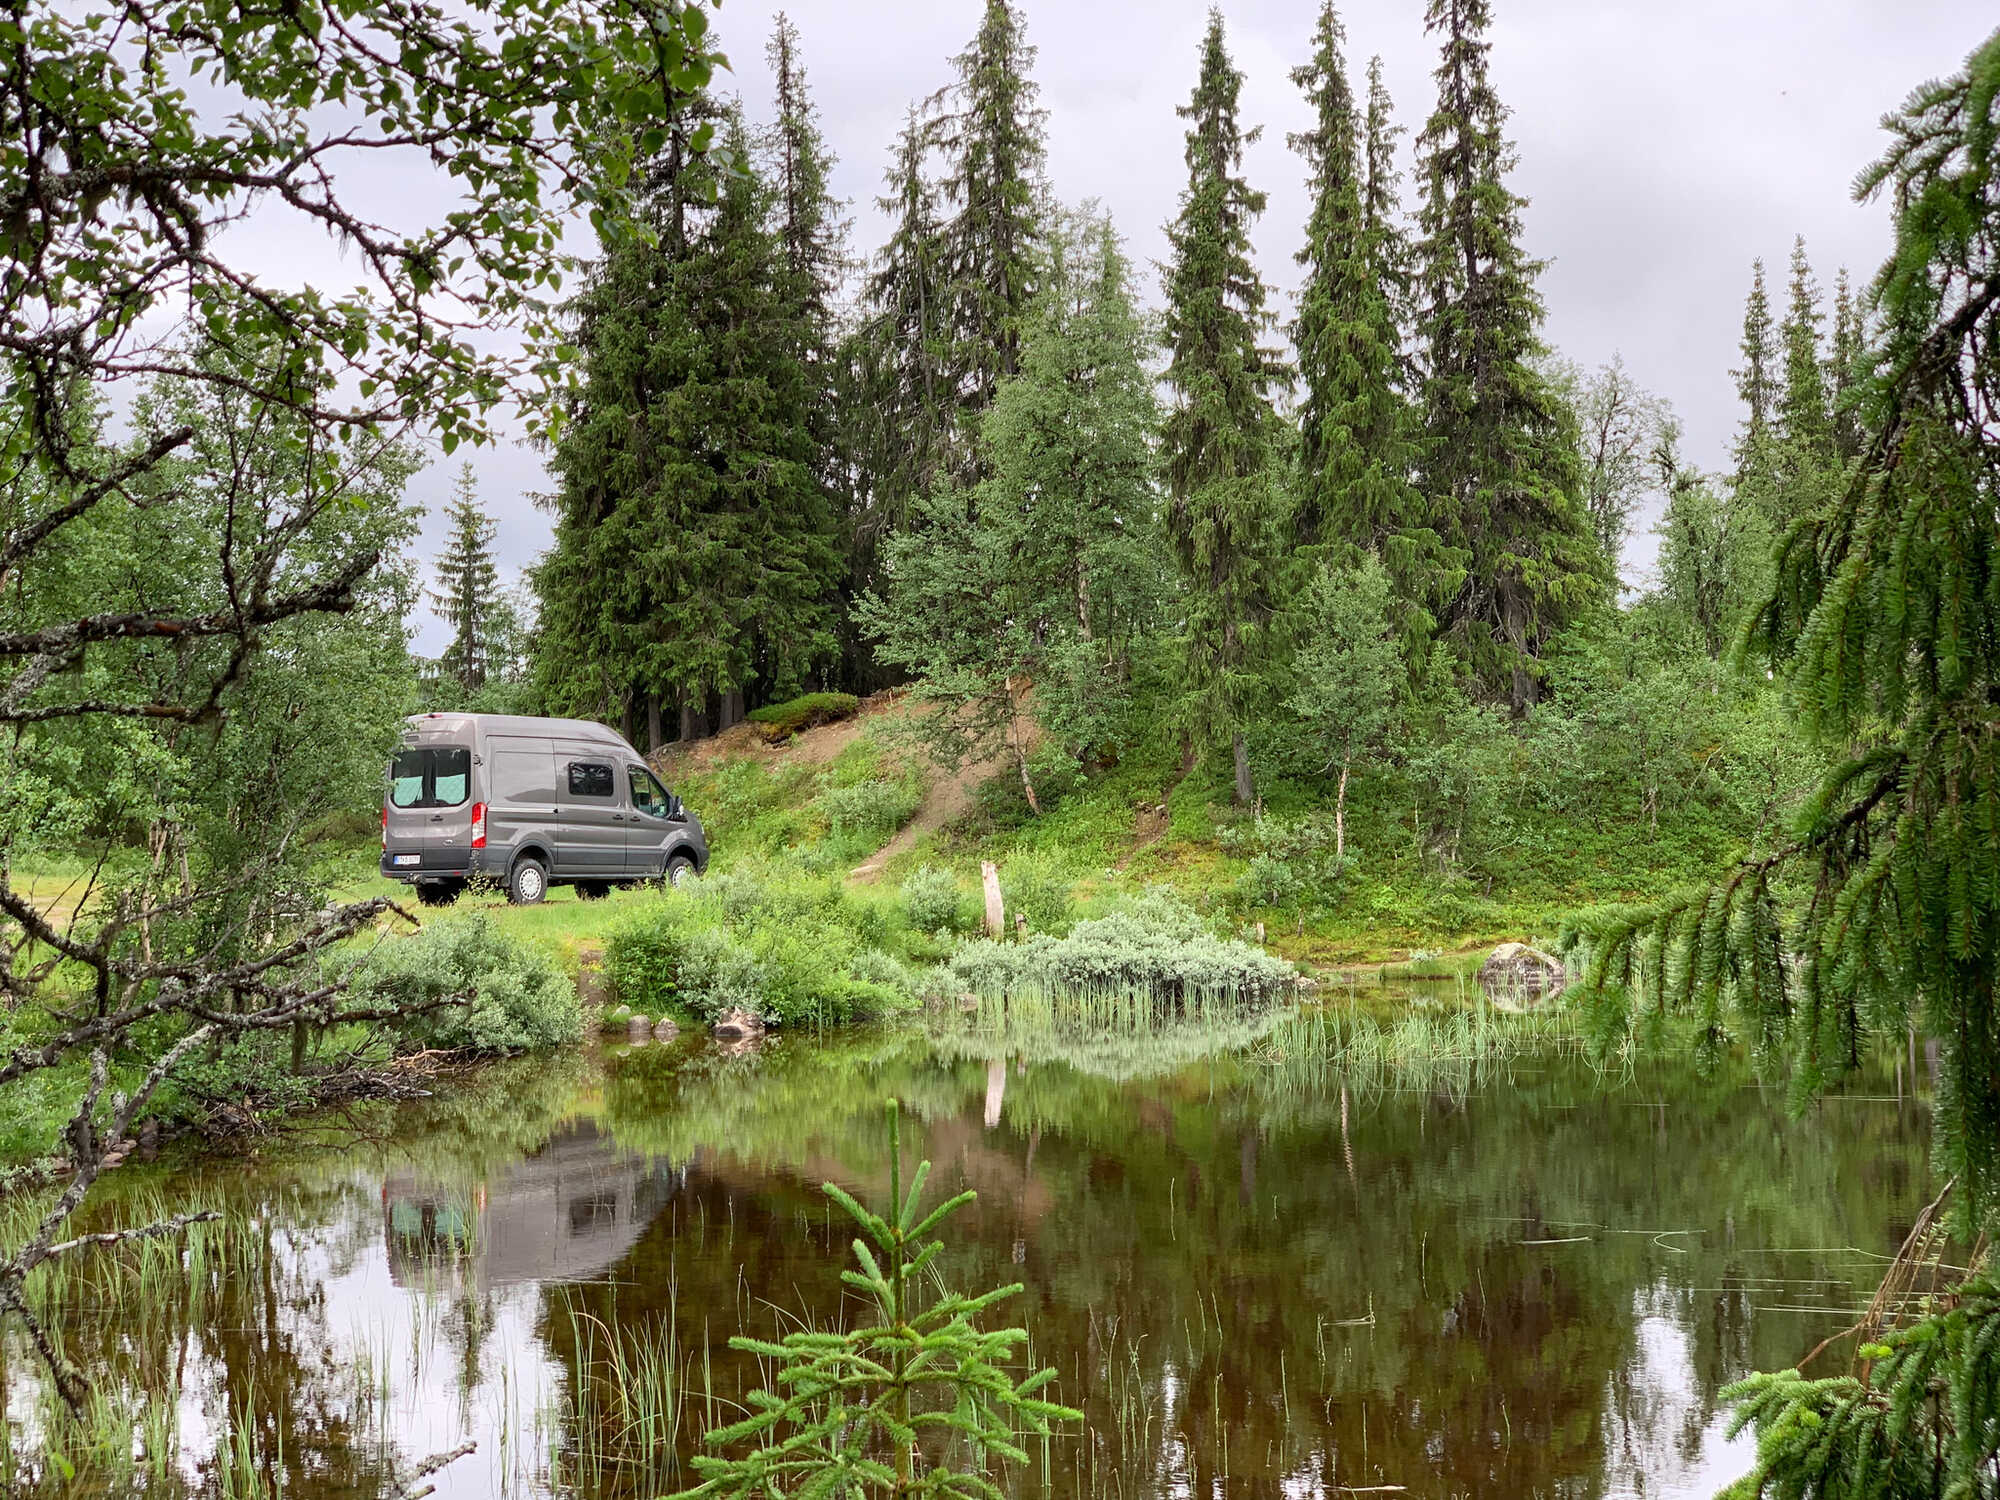
<instances>
[{"instance_id":1,"label":"broad, dense dark-green spruce growth rising directly behind the van","mask_svg":"<svg viewBox=\"0 0 2000 1500\"><path fill-rule=\"evenodd\" d=\"M552 454L556 546L538 570L550 706L682 734L750 684L788 696L832 654L836 522L814 474L814 392L770 184L660 164L656 246L596 268L578 306L584 390ZM678 246L678 250L676 250Z\"/></svg>"}]
</instances>

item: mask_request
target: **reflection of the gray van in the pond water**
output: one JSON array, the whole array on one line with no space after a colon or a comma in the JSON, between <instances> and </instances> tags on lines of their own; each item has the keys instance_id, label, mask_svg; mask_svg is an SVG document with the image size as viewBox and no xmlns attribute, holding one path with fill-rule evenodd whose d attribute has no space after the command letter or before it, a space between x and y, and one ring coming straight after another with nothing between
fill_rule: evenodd
<instances>
[{"instance_id":1,"label":"reflection of the gray van in the pond water","mask_svg":"<svg viewBox=\"0 0 2000 1500\"><path fill-rule=\"evenodd\" d=\"M686 1168L620 1152L584 1122L474 1186L398 1170L382 1180L396 1286L480 1290L604 1276L686 1182Z\"/></svg>"}]
</instances>

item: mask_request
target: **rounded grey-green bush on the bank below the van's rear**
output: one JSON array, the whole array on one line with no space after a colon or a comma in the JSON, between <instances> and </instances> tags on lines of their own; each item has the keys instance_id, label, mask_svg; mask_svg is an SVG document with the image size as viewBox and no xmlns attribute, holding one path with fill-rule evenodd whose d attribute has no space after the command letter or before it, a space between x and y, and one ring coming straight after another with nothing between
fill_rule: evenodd
<instances>
[{"instance_id":1,"label":"rounded grey-green bush on the bank below the van's rear","mask_svg":"<svg viewBox=\"0 0 2000 1500\"><path fill-rule=\"evenodd\" d=\"M356 1000L440 1008L400 1024L416 1046L454 1052L528 1052L584 1034L576 982L484 912L432 920L422 932L342 960Z\"/></svg>"}]
</instances>

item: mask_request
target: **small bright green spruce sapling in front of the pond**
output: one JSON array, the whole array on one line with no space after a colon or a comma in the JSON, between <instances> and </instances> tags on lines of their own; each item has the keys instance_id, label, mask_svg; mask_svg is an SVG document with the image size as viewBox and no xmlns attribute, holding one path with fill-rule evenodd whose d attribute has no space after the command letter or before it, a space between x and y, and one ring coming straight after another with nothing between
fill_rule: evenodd
<instances>
[{"instance_id":1,"label":"small bright green spruce sapling in front of the pond","mask_svg":"<svg viewBox=\"0 0 2000 1500\"><path fill-rule=\"evenodd\" d=\"M1022 1328L982 1332L978 1316L1020 1292L1020 1284L978 1296L924 1294L924 1272L944 1250L924 1242L946 1218L978 1194L962 1192L922 1214L930 1162L902 1190L902 1140L896 1100L888 1114L890 1214L862 1208L828 1182L862 1236L854 1240L860 1270L840 1278L876 1304L876 1320L848 1332L796 1332L782 1342L732 1338L730 1348L772 1360L776 1390L750 1392L754 1412L708 1434L712 1448L756 1446L738 1458L702 1454L694 1460L702 1484L676 1496L990 1496L1002 1490L986 1478L992 1458L1028 1462L1020 1438L1052 1436L1056 1422L1080 1422L1082 1412L1042 1400L1056 1372L1036 1370L1014 1380L1008 1364L1028 1342ZM956 1452L954 1452L956 1450ZM968 1458L972 1472L954 1468Z\"/></svg>"}]
</instances>

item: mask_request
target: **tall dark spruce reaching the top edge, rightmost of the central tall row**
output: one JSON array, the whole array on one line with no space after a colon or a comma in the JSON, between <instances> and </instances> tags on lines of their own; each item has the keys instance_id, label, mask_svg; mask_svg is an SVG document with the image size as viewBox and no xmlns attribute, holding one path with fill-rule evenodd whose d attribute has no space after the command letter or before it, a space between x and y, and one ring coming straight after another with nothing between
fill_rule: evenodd
<instances>
[{"instance_id":1,"label":"tall dark spruce reaching the top edge, rightmost of the central tall row","mask_svg":"<svg viewBox=\"0 0 2000 1500\"><path fill-rule=\"evenodd\" d=\"M1606 568L1578 474L1574 416L1534 370L1540 262L1520 248L1514 150L1486 74L1486 0L1430 0L1442 36L1438 106L1418 138L1424 208L1418 344L1420 484L1466 558L1440 626L1516 714L1538 696L1536 656L1604 598Z\"/></svg>"}]
</instances>

